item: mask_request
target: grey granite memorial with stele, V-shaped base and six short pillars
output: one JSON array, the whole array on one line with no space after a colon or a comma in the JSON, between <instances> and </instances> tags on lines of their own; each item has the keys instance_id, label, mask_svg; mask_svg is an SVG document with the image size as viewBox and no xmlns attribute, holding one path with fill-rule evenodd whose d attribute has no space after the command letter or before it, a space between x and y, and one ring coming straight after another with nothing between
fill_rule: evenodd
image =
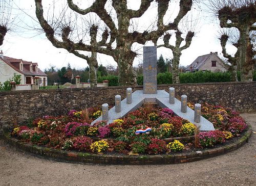
<instances>
[{"instance_id":1,"label":"grey granite memorial with stele, V-shaped base and six short pillars","mask_svg":"<svg viewBox=\"0 0 256 186\"><path fill-rule=\"evenodd\" d=\"M201 105L195 105L195 111L187 107L187 96L182 95L181 101L175 98L175 88L170 87L167 93L157 90L157 49L155 46L143 48L143 91L132 93L131 88L126 89L126 98L122 101L120 95L115 96L115 107L106 110L106 103L102 104L102 116L92 122L92 125L102 120L112 123L118 118L125 117L128 113L137 110L143 103L157 103L162 108L169 108L177 116L187 119L199 127L200 131L215 130L214 125L201 116ZM108 106L108 105L107 105Z\"/></svg>"}]
</instances>

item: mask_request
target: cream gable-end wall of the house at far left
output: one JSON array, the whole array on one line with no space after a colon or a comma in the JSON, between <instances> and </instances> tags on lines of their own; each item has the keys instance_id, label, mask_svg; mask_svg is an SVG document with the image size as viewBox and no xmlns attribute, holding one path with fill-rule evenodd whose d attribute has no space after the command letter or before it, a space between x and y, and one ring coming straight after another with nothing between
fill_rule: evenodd
<instances>
[{"instance_id":1,"label":"cream gable-end wall of the house at far left","mask_svg":"<svg viewBox=\"0 0 256 186\"><path fill-rule=\"evenodd\" d=\"M0 82L3 84L7 80L13 77L14 73L17 75L22 75L22 81L20 84L25 83L25 76L22 73L17 72L12 67L10 67L8 64L6 64L4 61L0 59Z\"/></svg>"}]
</instances>

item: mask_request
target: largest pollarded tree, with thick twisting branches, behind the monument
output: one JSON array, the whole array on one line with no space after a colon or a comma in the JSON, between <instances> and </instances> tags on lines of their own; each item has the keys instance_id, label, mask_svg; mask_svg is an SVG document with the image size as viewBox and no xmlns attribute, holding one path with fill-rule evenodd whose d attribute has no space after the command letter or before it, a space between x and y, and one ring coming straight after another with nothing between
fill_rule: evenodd
<instances>
[{"instance_id":1,"label":"largest pollarded tree, with thick twisting branches, behind the monument","mask_svg":"<svg viewBox=\"0 0 256 186\"><path fill-rule=\"evenodd\" d=\"M146 41L151 40L156 45L158 38L166 31L178 29L180 20L187 14L192 5L192 0L180 0L180 10L175 20L172 23L164 24L163 17L168 9L169 0L155 0L158 4L157 29L143 33L138 31L129 32L130 20L132 18L141 17L153 1L154 0L141 0L140 8L138 10L131 10L127 8L127 0L112 0L112 7L116 13L116 17L113 17L112 14L105 9L108 0L95 0L95 2L86 9L81 9L75 5L72 0L67 0L68 6L73 11L81 15L95 13L109 29L108 34L110 36L108 36L108 38L102 37L102 40L96 41L94 44L72 41L69 37L71 30L64 34L65 37L62 37L62 41L58 40L55 30L44 17L42 0L35 0L35 5L36 16L39 23L42 29L44 29L47 38L55 47L65 48L77 56L81 55L78 50L99 52L112 56L118 65L119 85L134 85L136 83L136 76L133 71L133 61L137 53L132 51L133 43L145 44ZM117 25L115 24L115 20L117 21ZM113 46L114 42L116 43L115 47ZM83 58L85 57L86 56L83 55Z\"/></svg>"}]
</instances>

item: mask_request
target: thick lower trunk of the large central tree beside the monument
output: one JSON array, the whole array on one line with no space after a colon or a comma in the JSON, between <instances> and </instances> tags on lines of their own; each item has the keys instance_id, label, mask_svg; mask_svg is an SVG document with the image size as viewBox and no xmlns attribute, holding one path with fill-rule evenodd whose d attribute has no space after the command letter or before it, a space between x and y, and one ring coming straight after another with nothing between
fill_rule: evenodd
<instances>
[{"instance_id":1,"label":"thick lower trunk of the large central tree beside the monument","mask_svg":"<svg viewBox=\"0 0 256 186\"><path fill-rule=\"evenodd\" d=\"M136 85L136 72L133 69L134 57L127 56L118 59L118 83L119 85Z\"/></svg>"}]
</instances>

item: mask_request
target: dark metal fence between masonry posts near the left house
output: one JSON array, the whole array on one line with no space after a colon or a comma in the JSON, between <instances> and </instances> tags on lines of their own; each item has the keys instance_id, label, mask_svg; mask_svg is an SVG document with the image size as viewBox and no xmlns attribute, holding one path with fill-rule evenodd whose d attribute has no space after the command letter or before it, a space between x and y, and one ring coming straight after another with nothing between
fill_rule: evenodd
<instances>
[{"instance_id":1,"label":"dark metal fence between masonry posts near the left house","mask_svg":"<svg viewBox=\"0 0 256 186\"><path fill-rule=\"evenodd\" d=\"M39 89L66 89L76 88L76 84L72 84L70 81L62 80L46 80L39 82Z\"/></svg>"}]
</instances>

